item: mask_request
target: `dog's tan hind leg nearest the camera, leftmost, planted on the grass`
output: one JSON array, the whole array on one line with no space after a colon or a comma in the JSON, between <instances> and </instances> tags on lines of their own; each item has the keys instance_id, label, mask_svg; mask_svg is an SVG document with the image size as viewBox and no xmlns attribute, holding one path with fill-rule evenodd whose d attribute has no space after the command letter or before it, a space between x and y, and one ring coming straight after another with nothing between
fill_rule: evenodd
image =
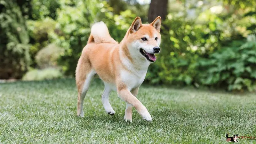
<instances>
[{"instance_id":1,"label":"dog's tan hind leg nearest the camera, leftmost, planted on the grass","mask_svg":"<svg viewBox=\"0 0 256 144\"><path fill-rule=\"evenodd\" d=\"M76 68L76 85L78 89L78 97L77 97L77 116L84 117L83 112L83 103L85 95L89 89L91 80L95 75L95 71L92 69L91 64L84 60L79 59L78 66Z\"/></svg>"}]
</instances>

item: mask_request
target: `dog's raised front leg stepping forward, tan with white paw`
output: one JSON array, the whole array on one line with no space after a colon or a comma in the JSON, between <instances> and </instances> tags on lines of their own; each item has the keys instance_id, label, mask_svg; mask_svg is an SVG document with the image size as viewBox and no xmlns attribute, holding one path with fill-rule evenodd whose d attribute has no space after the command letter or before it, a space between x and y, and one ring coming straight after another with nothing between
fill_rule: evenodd
<instances>
[{"instance_id":1,"label":"dog's raised front leg stepping forward, tan with white paw","mask_svg":"<svg viewBox=\"0 0 256 144\"><path fill-rule=\"evenodd\" d=\"M140 102L140 100L138 100L134 95L132 95L132 93L124 88L124 89L120 89L118 90L118 96L124 100L126 103L130 104L130 106L132 105L133 107L135 107L138 111L138 113L140 114L140 116L143 117L143 119L147 120L147 121L152 121L152 118L147 110L147 108ZM127 116L129 116L129 114L131 114L131 109L128 105L128 108L126 106L126 110L125 113L127 114ZM131 115L132 118L132 115Z\"/></svg>"}]
</instances>

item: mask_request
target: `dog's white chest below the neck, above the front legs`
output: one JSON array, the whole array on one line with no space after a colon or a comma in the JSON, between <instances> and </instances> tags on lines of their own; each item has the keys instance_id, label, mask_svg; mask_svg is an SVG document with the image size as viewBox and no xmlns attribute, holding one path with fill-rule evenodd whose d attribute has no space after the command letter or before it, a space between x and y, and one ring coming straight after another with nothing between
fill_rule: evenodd
<instances>
[{"instance_id":1,"label":"dog's white chest below the neck, above the front legs","mask_svg":"<svg viewBox=\"0 0 256 144\"><path fill-rule=\"evenodd\" d=\"M129 72L126 70L121 71L121 78L126 84L129 90L138 87L142 84L147 74L147 70L138 70L134 72Z\"/></svg>"}]
</instances>

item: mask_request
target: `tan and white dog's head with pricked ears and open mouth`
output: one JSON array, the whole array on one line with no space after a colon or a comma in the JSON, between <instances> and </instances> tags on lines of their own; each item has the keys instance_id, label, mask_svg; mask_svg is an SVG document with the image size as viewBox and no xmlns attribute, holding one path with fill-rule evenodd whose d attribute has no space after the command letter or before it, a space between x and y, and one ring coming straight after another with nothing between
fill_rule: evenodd
<instances>
[{"instance_id":1,"label":"tan and white dog's head with pricked ears and open mouth","mask_svg":"<svg viewBox=\"0 0 256 144\"><path fill-rule=\"evenodd\" d=\"M160 35L161 17L158 16L150 24L142 24L140 17L136 17L128 29L126 44L131 54L138 53L141 58L150 62L156 61L155 53L160 52Z\"/></svg>"}]
</instances>

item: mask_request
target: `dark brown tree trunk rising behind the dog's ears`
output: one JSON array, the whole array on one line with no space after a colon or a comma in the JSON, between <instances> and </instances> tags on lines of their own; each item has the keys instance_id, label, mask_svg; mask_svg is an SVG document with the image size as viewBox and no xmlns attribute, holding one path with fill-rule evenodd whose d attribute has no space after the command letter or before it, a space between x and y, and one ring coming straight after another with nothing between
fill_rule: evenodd
<instances>
[{"instance_id":1,"label":"dark brown tree trunk rising behind the dog's ears","mask_svg":"<svg viewBox=\"0 0 256 144\"><path fill-rule=\"evenodd\" d=\"M151 0L148 10L148 22L151 23L156 17L161 16L165 20L167 15L168 0Z\"/></svg>"}]
</instances>

